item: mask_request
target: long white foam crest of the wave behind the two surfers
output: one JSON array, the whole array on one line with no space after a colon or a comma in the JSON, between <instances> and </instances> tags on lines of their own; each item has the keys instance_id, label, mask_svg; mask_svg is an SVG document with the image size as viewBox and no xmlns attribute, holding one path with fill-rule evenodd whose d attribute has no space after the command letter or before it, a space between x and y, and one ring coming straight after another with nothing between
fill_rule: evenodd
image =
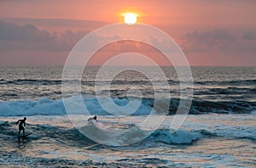
<instances>
[{"instance_id":1,"label":"long white foam crest of the wave behind the two surfers","mask_svg":"<svg viewBox=\"0 0 256 168\"><path fill-rule=\"evenodd\" d=\"M73 108L79 107L77 99L79 97L73 96L68 98L68 102L73 105ZM133 100L136 101L136 100ZM107 102L107 99L106 99ZM127 103L125 98L113 98L113 102L117 105L124 105ZM96 98L84 98L84 104L90 111L90 115L109 115L101 105L98 104ZM126 109L129 110L129 109ZM141 104L133 115L149 114L152 107L149 104ZM76 115L84 114L80 110L74 110ZM78 112L77 112L78 111ZM52 100L49 98L41 98L35 100L9 101L0 102L0 116L23 116L23 115L66 115L62 99Z\"/></svg>"}]
</instances>

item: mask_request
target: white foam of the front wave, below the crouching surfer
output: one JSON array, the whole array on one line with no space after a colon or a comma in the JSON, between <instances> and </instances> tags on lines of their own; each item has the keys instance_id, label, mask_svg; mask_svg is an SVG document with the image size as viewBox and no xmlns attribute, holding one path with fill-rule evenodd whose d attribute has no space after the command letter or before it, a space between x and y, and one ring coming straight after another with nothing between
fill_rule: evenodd
<instances>
[{"instance_id":1,"label":"white foam of the front wave, below the crouching surfer","mask_svg":"<svg viewBox=\"0 0 256 168\"><path fill-rule=\"evenodd\" d=\"M114 131L113 129L98 126L98 123L96 122L83 126L79 130L91 140L110 146L123 146L131 143L137 143L142 141L144 138L152 140L155 143L189 144L203 137L201 132L191 132L182 129L173 133L168 129L158 129L155 132L152 132L142 130L137 126L132 126L124 131Z\"/></svg>"}]
</instances>

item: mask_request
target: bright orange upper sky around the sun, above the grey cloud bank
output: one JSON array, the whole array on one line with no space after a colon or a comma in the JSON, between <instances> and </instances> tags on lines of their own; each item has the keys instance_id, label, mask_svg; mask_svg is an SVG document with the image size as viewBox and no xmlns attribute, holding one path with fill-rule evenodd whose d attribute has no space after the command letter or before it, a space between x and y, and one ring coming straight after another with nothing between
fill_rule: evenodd
<instances>
[{"instance_id":1,"label":"bright orange upper sky around the sun, above the grey cloud bank","mask_svg":"<svg viewBox=\"0 0 256 168\"><path fill-rule=\"evenodd\" d=\"M1 17L98 20L117 23L131 11L139 21L152 25L253 25L254 1L2 1Z\"/></svg>"}]
</instances>

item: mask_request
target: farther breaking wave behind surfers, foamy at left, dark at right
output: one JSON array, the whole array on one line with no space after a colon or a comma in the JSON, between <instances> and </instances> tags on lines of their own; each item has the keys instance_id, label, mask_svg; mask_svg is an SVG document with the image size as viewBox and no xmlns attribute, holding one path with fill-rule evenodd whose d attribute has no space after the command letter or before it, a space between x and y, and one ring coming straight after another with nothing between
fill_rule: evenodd
<instances>
[{"instance_id":1,"label":"farther breaking wave behind surfers, foamy at left, dark at right","mask_svg":"<svg viewBox=\"0 0 256 168\"><path fill-rule=\"evenodd\" d=\"M76 107L79 97L73 96L69 100ZM132 101L140 101L139 98L130 98ZM107 101L107 99L106 99ZM125 105L128 103L127 98L113 98L113 102L118 105ZM133 115L148 115L152 108L154 113L166 113L167 115L174 115L179 104L178 98L172 98L169 102L165 98L156 100L157 105L154 105L154 98L143 98L142 104ZM92 111L91 115L109 115L98 103L96 98L84 98L84 104L87 109ZM165 104L170 104L168 111L163 111L162 107ZM162 106L163 105L163 106ZM128 109L129 110L129 109ZM205 101L193 100L192 106L189 109L190 115L200 115L206 113L222 113L222 114L250 114L256 110L256 102L249 101ZM83 114L83 113L82 113ZM39 100L20 100L20 101L5 101L0 102L1 116L15 116L15 115L66 115L66 111L62 99L41 98Z\"/></svg>"}]
</instances>

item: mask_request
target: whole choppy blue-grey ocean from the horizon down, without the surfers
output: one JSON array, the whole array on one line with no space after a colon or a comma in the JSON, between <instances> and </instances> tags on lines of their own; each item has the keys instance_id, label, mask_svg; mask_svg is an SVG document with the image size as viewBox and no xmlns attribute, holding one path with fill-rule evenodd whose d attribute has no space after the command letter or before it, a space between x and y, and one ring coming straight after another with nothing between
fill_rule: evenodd
<instances>
[{"instance_id":1,"label":"whole choppy blue-grey ocean from the horizon down, without the surfers","mask_svg":"<svg viewBox=\"0 0 256 168\"><path fill-rule=\"evenodd\" d=\"M141 68L152 71L151 79L158 81L153 67ZM0 68L0 166L255 167L256 67L192 67L194 95L190 115L176 132L170 132L170 126L181 90L175 70L162 69L169 86L154 88L147 76L135 70L126 70L110 81L115 104L124 107L129 101L142 100L131 115L111 115L102 109L94 87L98 69L84 70L81 85L84 104L91 115L98 115L99 122L81 130L139 129L154 108L154 92L159 92L162 95L159 101L164 102L166 92L171 92L168 111L154 114L166 115L163 123L142 141L118 146L116 139L108 145L96 143L73 126L61 99L61 68ZM108 82L102 81L100 87L106 103ZM129 92L130 88L137 88L140 96ZM68 94L68 100L75 104L78 96L72 89ZM15 121L25 115L26 132L32 134L19 139ZM85 122L89 117L74 115ZM146 126L141 132L150 129ZM121 138L123 141L130 137Z\"/></svg>"}]
</instances>

